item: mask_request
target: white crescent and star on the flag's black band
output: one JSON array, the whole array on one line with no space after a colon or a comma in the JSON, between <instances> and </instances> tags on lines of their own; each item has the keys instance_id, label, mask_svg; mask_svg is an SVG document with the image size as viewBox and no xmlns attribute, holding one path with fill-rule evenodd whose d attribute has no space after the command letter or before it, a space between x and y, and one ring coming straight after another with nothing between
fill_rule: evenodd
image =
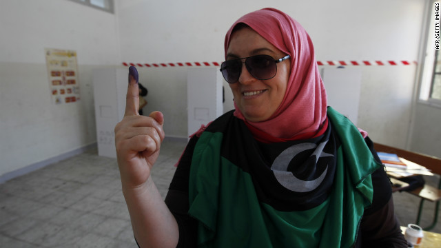
<instances>
[{"instance_id":1,"label":"white crescent and star on the flag's black band","mask_svg":"<svg viewBox=\"0 0 441 248\"><path fill-rule=\"evenodd\" d=\"M292 172L287 172L287 169L292 158L307 149L314 149L317 147L314 153L311 154L316 155L316 163L318 161L318 158L322 158L325 156L334 156L332 154L322 152L323 147L325 147L326 143L327 141L322 142L318 146L314 143L301 143L288 147L287 149L285 149L285 151L280 153L277 158L274 159L274 162L271 165L271 170L273 171L274 176L276 176L278 182L283 185L283 187L294 192L311 192L316 189L318 185L322 183L323 179L325 179L326 173L328 171L328 166L326 166L325 171L323 171L318 178L310 181L296 178L296 176L294 176ZM318 153L320 153L320 156L317 156Z\"/></svg>"}]
</instances>

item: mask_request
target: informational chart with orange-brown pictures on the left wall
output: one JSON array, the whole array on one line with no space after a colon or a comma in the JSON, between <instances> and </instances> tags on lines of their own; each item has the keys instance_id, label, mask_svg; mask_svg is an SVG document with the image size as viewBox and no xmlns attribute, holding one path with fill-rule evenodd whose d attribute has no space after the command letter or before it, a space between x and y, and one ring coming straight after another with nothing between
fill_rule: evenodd
<instances>
[{"instance_id":1,"label":"informational chart with orange-brown pictures on the left wall","mask_svg":"<svg viewBox=\"0 0 441 248\"><path fill-rule=\"evenodd\" d=\"M52 103L75 103L80 100L78 65L74 50L45 48Z\"/></svg>"}]
</instances>

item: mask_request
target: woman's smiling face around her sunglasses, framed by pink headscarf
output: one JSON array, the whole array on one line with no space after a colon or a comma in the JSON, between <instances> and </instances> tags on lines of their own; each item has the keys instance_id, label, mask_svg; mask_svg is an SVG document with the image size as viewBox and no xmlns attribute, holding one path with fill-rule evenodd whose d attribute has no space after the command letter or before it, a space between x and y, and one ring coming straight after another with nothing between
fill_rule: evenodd
<instances>
[{"instance_id":1,"label":"woman's smiling face around her sunglasses, framed by pink headscarf","mask_svg":"<svg viewBox=\"0 0 441 248\"><path fill-rule=\"evenodd\" d=\"M251 28L241 28L232 34L227 50L227 60L265 54L280 59L286 56ZM234 102L247 121L265 121L276 112L287 90L291 62L277 63L277 74L272 79L258 80L242 66L239 80L229 83Z\"/></svg>"}]
</instances>

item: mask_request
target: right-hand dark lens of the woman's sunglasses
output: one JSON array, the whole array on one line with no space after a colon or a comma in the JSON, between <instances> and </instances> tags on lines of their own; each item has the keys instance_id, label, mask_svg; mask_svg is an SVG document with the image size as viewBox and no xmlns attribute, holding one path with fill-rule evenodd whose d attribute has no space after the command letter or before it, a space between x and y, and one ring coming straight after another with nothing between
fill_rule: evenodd
<instances>
[{"instance_id":1,"label":"right-hand dark lens of the woman's sunglasses","mask_svg":"<svg viewBox=\"0 0 441 248\"><path fill-rule=\"evenodd\" d=\"M271 56L252 56L245 61L247 70L252 76L259 80L271 79L276 76L277 65Z\"/></svg>"}]
</instances>

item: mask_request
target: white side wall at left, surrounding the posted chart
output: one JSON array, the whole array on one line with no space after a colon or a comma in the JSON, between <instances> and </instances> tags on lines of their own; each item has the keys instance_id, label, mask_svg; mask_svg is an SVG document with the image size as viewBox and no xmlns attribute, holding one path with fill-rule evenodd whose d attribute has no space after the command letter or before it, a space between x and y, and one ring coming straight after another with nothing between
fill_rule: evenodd
<instances>
[{"instance_id":1,"label":"white side wall at left, surrounding the posted chart","mask_svg":"<svg viewBox=\"0 0 441 248\"><path fill-rule=\"evenodd\" d=\"M92 68L119 63L116 17L72 1L0 2L0 177L96 142ZM75 50L81 101L51 103L44 48Z\"/></svg>"}]
</instances>

